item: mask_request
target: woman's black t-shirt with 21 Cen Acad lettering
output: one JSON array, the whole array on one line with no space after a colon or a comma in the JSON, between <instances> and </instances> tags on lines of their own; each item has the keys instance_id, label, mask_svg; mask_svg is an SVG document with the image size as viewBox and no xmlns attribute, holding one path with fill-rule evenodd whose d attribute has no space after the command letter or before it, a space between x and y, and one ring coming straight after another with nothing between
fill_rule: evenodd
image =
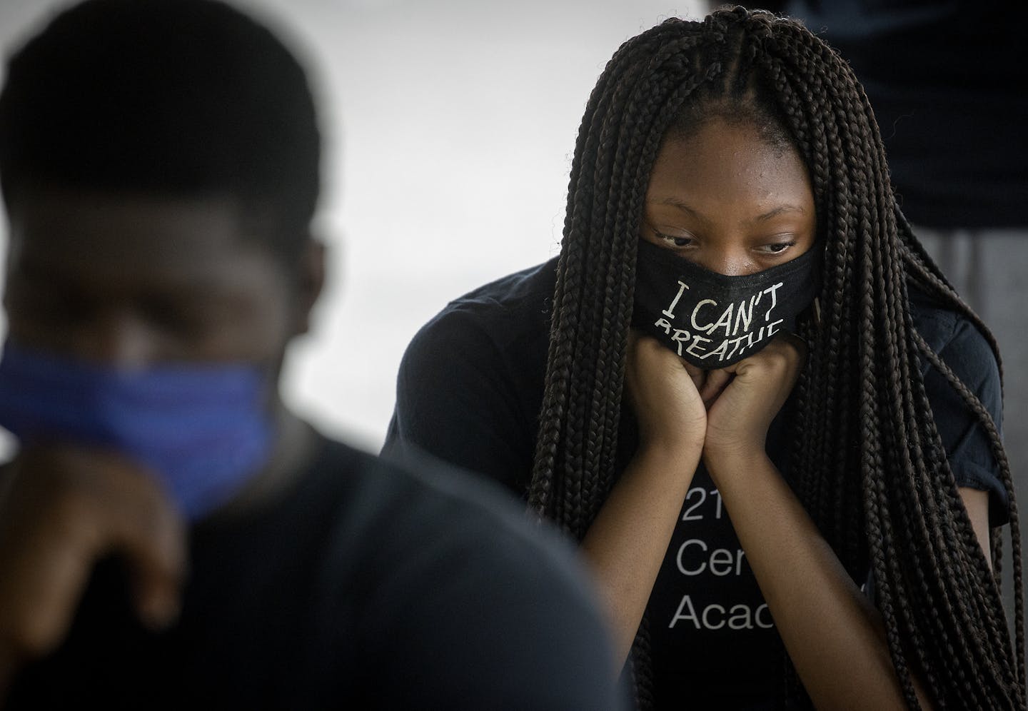
<instances>
[{"instance_id":1,"label":"woman's black t-shirt with 21 Cen Acad lettering","mask_svg":"<svg viewBox=\"0 0 1028 711\"><path fill-rule=\"evenodd\" d=\"M448 304L414 337L400 367L383 453L427 450L524 497L531 473L556 260L485 285ZM912 300L919 333L999 421L995 359L971 324ZM924 367L925 387L958 484L990 492L994 525L1005 489L986 435L959 395ZM626 462L635 440L619 440ZM777 418L768 454L783 470ZM747 708L778 697L781 643L721 496L702 467L693 478L650 598L658 708Z\"/></svg>"}]
</instances>

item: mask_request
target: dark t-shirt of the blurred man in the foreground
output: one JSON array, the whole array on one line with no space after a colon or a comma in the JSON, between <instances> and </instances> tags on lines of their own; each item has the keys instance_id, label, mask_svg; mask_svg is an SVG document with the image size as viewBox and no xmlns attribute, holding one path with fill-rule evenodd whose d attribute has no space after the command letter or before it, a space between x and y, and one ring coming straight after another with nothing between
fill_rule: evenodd
<instances>
[{"instance_id":1,"label":"dark t-shirt of the blurred man in the foreground","mask_svg":"<svg viewBox=\"0 0 1028 711\"><path fill-rule=\"evenodd\" d=\"M574 551L477 478L322 440L283 500L190 549L175 628L142 628L107 560L5 709L625 708Z\"/></svg>"}]
</instances>

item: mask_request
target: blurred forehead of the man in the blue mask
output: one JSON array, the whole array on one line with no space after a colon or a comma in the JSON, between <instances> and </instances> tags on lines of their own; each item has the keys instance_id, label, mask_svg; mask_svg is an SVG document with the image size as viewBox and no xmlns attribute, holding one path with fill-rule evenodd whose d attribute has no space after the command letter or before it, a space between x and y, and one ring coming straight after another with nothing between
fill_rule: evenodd
<instances>
[{"instance_id":1,"label":"blurred forehead of the man in the blue mask","mask_svg":"<svg viewBox=\"0 0 1028 711\"><path fill-rule=\"evenodd\" d=\"M242 217L215 197L25 191L10 204L8 268L114 283L231 278L272 261Z\"/></svg>"}]
</instances>

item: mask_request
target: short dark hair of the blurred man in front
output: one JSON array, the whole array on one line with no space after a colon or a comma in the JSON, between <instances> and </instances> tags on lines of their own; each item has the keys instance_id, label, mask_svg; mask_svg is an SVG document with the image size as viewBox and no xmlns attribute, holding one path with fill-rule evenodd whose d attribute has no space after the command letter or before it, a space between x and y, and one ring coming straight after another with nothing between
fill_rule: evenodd
<instances>
[{"instance_id":1,"label":"short dark hair of the blurred man in front","mask_svg":"<svg viewBox=\"0 0 1028 711\"><path fill-rule=\"evenodd\" d=\"M0 184L228 195L289 254L320 190L307 73L271 31L217 0L85 0L7 63Z\"/></svg>"}]
</instances>

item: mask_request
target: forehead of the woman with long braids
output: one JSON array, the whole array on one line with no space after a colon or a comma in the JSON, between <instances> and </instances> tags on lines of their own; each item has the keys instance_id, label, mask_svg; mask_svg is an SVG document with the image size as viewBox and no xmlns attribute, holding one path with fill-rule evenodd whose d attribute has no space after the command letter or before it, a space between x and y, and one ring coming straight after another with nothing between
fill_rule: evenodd
<instances>
[{"instance_id":1,"label":"forehead of the woman with long braids","mask_svg":"<svg viewBox=\"0 0 1028 711\"><path fill-rule=\"evenodd\" d=\"M754 210L782 200L813 202L807 167L792 146L774 145L757 127L723 119L688 138L669 138L654 163L649 199L683 192Z\"/></svg>"}]
</instances>

